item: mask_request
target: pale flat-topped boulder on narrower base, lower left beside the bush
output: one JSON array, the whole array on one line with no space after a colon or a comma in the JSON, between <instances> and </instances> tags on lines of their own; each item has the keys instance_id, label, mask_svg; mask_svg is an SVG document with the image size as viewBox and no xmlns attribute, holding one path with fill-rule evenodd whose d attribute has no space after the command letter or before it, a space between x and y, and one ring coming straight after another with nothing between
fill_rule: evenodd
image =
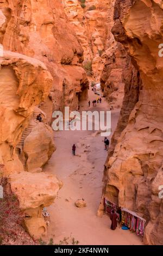
<instances>
[{"instance_id":1,"label":"pale flat-topped boulder on narrower base, lower left beside the bush","mask_svg":"<svg viewBox=\"0 0 163 256\"><path fill-rule=\"evenodd\" d=\"M34 239L46 235L47 225L42 208L53 203L61 183L54 175L29 172L11 174L9 182L25 215L24 225L29 234Z\"/></svg>"}]
</instances>

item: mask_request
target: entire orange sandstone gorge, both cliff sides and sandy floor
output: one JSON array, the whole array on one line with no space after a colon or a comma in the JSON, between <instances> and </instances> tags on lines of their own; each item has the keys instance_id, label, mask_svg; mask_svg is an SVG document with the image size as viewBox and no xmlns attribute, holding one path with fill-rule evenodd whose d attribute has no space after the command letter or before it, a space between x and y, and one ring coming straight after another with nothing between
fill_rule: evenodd
<instances>
[{"instance_id":1,"label":"entire orange sandstone gorge, both cliff sides and sandy floor","mask_svg":"<svg viewBox=\"0 0 163 256\"><path fill-rule=\"evenodd\" d=\"M160 0L0 2L0 245L163 245L162 21ZM111 111L109 150L53 131L65 107ZM143 235L112 231L105 200Z\"/></svg>"}]
</instances>

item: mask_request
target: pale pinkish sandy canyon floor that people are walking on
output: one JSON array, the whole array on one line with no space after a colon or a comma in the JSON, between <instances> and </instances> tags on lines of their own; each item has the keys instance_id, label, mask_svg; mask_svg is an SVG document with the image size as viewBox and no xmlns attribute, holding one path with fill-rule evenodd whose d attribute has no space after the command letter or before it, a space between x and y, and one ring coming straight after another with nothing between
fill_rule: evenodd
<instances>
[{"instance_id":1,"label":"pale pinkish sandy canyon floor that people are walking on","mask_svg":"<svg viewBox=\"0 0 163 256\"><path fill-rule=\"evenodd\" d=\"M90 90L90 101L96 97ZM108 103L102 99L98 107L90 107L90 110L108 109ZM80 105L83 106L81 110L89 109L87 102ZM115 130L118 115L118 111L112 111L112 132ZM57 150L44 170L57 175L64 186L53 205L48 208L51 214L48 239L53 237L55 243L58 243L71 235L80 245L141 245L140 237L128 230L118 227L112 231L109 216L96 216L102 193L103 166L107 156L104 138L93 137L91 131L59 131L55 132L54 138ZM72 156L73 143L77 145L77 156ZM87 144L90 145L89 149L85 148ZM86 208L78 209L74 206L79 198L86 200Z\"/></svg>"}]
</instances>

